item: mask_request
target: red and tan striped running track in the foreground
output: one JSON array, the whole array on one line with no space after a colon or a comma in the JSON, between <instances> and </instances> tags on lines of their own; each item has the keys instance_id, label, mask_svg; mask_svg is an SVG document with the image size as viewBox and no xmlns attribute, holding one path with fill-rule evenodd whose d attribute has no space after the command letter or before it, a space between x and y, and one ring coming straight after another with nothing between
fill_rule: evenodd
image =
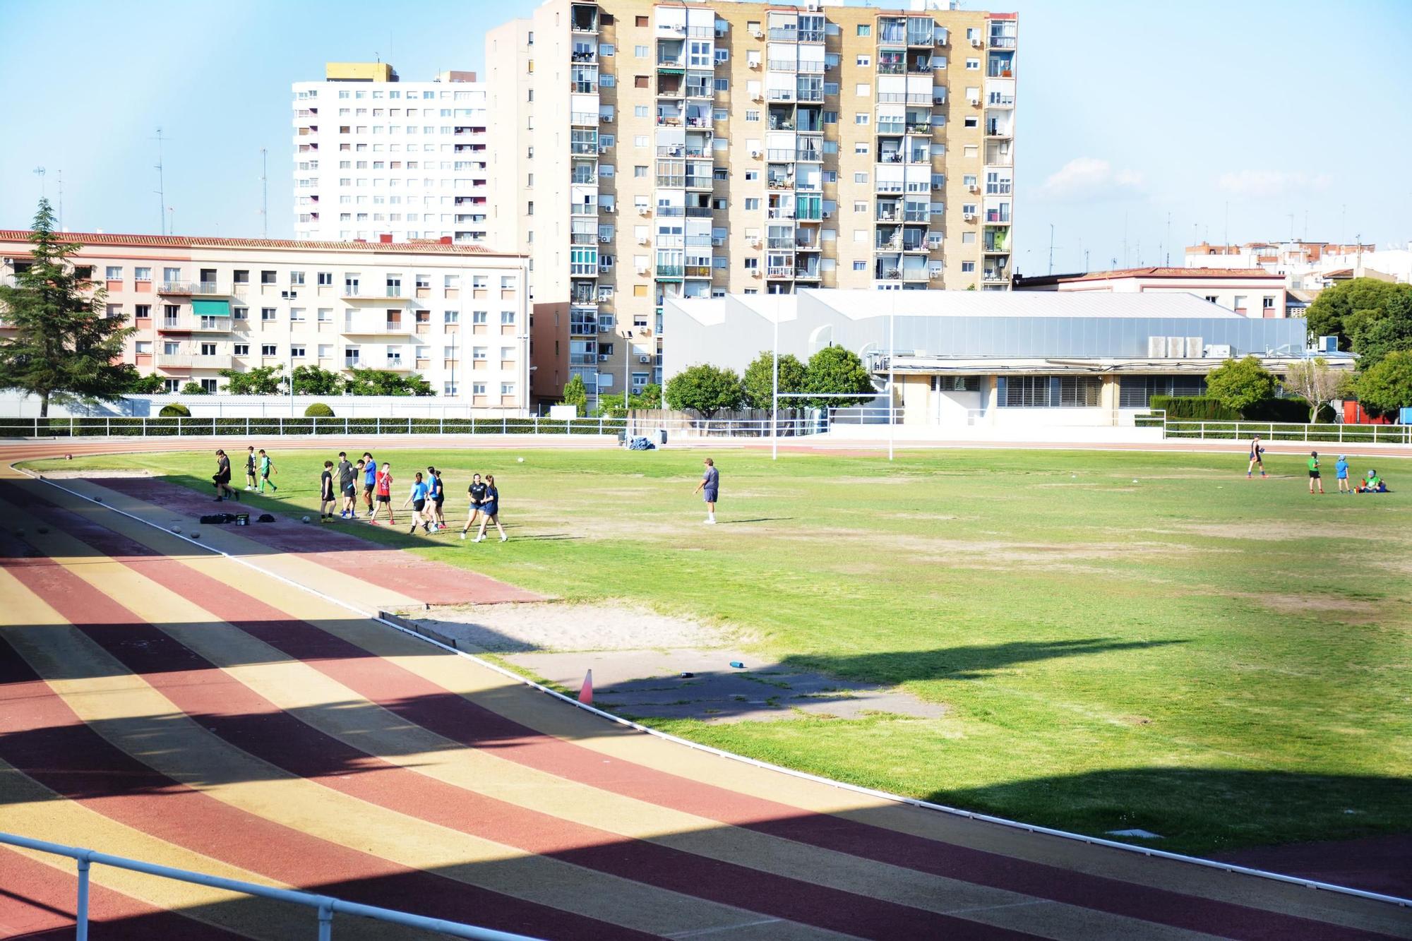
<instances>
[{"instance_id":1,"label":"red and tan striped running track in the foreground","mask_svg":"<svg viewBox=\"0 0 1412 941\"><path fill-rule=\"evenodd\" d=\"M40 482L0 480L0 513L4 829L551 938L1412 937L1384 903L613 726ZM271 903L95 880L96 938L312 934ZM0 849L0 937L71 937L73 886Z\"/></svg>"}]
</instances>

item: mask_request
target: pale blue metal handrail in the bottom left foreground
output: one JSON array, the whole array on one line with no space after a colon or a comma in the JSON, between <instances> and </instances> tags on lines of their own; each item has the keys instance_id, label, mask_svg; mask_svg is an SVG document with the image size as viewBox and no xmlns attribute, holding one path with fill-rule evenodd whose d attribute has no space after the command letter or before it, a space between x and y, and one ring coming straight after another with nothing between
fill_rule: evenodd
<instances>
[{"instance_id":1,"label":"pale blue metal handrail in the bottom left foreground","mask_svg":"<svg viewBox=\"0 0 1412 941\"><path fill-rule=\"evenodd\" d=\"M441 934L449 934L453 938L476 938L477 941L534 941L524 934L510 934L508 931L480 928L472 924L462 924L459 921L446 921L443 918L429 918L426 916L397 911L394 909L364 906L357 901L345 901L332 896L316 896L313 893L298 892L295 889L275 889L274 886L261 886L253 882L226 879L225 876L210 876L208 873L192 872L189 869L174 869L171 866L160 866L140 859L102 853L96 849L65 846L64 844L51 844L45 839L20 836L18 834L0 832L0 844L34 849L41 853L52 853L55 856L68 856L69 859L78 860L79 890L78 907L75 910L76 941L88 941L89 868L93 863L113 866L114 869L141 872L161 879L174 879L176 882L189 882L198 886L210 886L212 889L225 889L226 892L239 892L244 896L258 896L261 899L274 899L275 901L287 901L289 904L316 909L319 913L319 941L329 941L332 938L335 913L357 916L360 918L374 918L377 921L400 924L408 928L421 928L422 931L439 931Z\"/></svg>"}]
</instances>

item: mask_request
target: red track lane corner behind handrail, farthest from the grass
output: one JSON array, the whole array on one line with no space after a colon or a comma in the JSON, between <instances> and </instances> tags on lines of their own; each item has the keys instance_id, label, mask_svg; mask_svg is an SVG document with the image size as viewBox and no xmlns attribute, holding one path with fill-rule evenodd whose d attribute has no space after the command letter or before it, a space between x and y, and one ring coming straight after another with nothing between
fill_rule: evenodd
<instances>
[{"instance_id":1,"label":"red track lane corner behind handrail, farthest from the grass","mask_svg":"<svg viewBox=\"0 0 1412 941\"><path fill-rule=\"evenodd\" d=\"M7 846L0 846L0 872L6 880L0 890L0 937L25 941L66 941L73 937L78 875L65 875ZM244 937L155 909L96 882L89 883L89 928L90 937L102 941L234 941Z\"/></svg>"}]
</instances>

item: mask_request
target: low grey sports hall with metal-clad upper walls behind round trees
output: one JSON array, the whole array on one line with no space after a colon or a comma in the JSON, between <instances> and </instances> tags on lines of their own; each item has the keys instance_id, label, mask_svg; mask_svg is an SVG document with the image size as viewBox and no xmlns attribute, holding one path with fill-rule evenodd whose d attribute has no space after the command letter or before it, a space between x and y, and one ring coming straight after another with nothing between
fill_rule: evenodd
<instances>
[{"instance_id":1,"label":"low grey sports hall with metal-clad upper walls behind round trees","mask_svg":"<svg viewBox=\"0 0 1412 941\"><path fill-rule=\"evenodd\" d=\"M799 291L668 301L668 380L695 363L737 372L778 349L856 352L895 380L905 425L1127 425L1152 396L1199 396L1230 357L1282 372L1312 355L1305 324L1189 294ZM1351 369L1346 353L1320 353ZM887 406L887 393L880 401Z\"/></svg>"}]
</instances>

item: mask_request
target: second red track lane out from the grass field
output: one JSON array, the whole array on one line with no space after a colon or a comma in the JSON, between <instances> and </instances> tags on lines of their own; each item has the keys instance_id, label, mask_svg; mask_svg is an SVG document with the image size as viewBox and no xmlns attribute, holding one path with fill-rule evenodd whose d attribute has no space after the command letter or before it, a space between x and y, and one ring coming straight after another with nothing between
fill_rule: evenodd
<instances>
[{"instance_id":1,"label":"second red track lane out from the grass field","mask_svg":"<svg viewBox=\"0 0 1412 941\"><path fill-rule=\"evenodd\" d=\"M44 514L89 545L99 541L100 527L82 517L48 506ZM141 547L124 547L126 537L102 533L107 533L104 555L150 578L154 565L179 565L128 561L120 552ZM291 774L352 797L527 852L857 937L923 937L943 925L969 938L1034 937L627 839L408 771L282 712L72 572L42 560L18 560L10 571L203 728Z\"/></svg>"}]
</instances>

